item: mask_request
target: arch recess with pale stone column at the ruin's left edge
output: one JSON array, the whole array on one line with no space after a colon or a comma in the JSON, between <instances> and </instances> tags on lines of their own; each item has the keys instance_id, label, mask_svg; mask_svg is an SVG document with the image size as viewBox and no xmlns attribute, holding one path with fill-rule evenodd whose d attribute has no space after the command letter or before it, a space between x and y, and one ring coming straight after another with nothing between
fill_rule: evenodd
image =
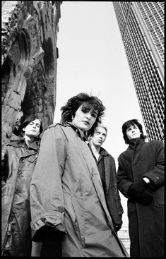
<instances>
[{"instance_id":1,"label":"arch recess with pale stone column at the ruin's left edge","mask_svg":"<svg viewBox=\"0 0 166 259\"><path fill-rule=\"evenodd\" d=\"M1 68L2 141L6 143L14 131L26 90L24 76L29 59L29 41L23 31L13 41Z\"/></svg>"}]
</instances>

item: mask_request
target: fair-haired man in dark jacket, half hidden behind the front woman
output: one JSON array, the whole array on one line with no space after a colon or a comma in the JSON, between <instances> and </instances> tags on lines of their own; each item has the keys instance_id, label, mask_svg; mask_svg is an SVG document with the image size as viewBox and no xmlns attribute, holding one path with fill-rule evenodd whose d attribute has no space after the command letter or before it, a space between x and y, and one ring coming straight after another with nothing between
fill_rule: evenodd
<instances>
[{"instance_id":1,"label":"fair-haired man in dark jacket, half hidden behind the front woman","mask_svg":"<svg viewBox=\"0 0 166 259\"><path fill-rule=\"evenodd\" d=\"M107 127L99 124L93 138L90 139L90 147L97 162L97 168L102 180L105 192L105 200L109 214L112 217L115 231L121 229L122 214L121 199L117 188L117 172L114 157L110 155L101 145L107 138Z\"/></svg>"}]
</instances>

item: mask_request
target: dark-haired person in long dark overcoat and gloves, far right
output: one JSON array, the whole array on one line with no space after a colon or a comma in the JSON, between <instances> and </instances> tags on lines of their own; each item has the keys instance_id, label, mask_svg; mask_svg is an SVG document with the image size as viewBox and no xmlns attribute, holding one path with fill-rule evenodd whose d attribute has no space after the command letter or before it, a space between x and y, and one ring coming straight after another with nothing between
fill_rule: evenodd
<instances>
[{"instance_id":1,"label":"dark-haired person in long dark overcoat and gloves, far right","mask_svg":"<svg viewBox=\"0 0 166 259\"><path fill-rule=\"evenodd\" d=\"M122 126L129 147L119 155L117 183L128 198L131 257L164 256L164 148L146 142L136 119Z\"/></svg>"}]
</instances>

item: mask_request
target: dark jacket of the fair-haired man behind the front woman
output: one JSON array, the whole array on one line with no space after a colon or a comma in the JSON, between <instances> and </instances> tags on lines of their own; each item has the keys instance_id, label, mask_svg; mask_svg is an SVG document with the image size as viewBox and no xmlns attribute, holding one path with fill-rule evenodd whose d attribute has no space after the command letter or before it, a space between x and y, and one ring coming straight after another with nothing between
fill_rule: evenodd
<instances>
[{"instance_id":1,"label":"dark jacket of the fair-haired man behind the front woman","mask_svg":"<svg viewBox=\"0 0 166 259\"><path fill-rule=\"evenodd\" d=\"M105 177L105 198L107 207L114 227L122 224L122 214L124 212L121 206L121 198L117 188L117 172L114 162L114 157L110 155L103 147L100 147L100 157L97 161L97 165L104 162L104 177Z\"/></svg>"}]
</instances>

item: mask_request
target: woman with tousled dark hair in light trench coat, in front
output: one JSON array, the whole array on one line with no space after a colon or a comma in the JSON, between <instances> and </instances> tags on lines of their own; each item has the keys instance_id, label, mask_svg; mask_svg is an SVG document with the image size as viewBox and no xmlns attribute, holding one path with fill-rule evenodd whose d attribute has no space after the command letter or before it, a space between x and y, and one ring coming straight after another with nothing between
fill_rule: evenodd
<instances>
[{"instance_id":1,"label":"woman with tousled dark hair in light trench coat, in front","mask_svg":"<svg viewBox=\"0 0 166 259\"><path fill-rule=\"evenodd\" d=\"M30 185L32 239L41 256L125 257L114 233L95 159L87 145L105 111L80 93L45 131Z\"/></svg>"}]
</instances>

